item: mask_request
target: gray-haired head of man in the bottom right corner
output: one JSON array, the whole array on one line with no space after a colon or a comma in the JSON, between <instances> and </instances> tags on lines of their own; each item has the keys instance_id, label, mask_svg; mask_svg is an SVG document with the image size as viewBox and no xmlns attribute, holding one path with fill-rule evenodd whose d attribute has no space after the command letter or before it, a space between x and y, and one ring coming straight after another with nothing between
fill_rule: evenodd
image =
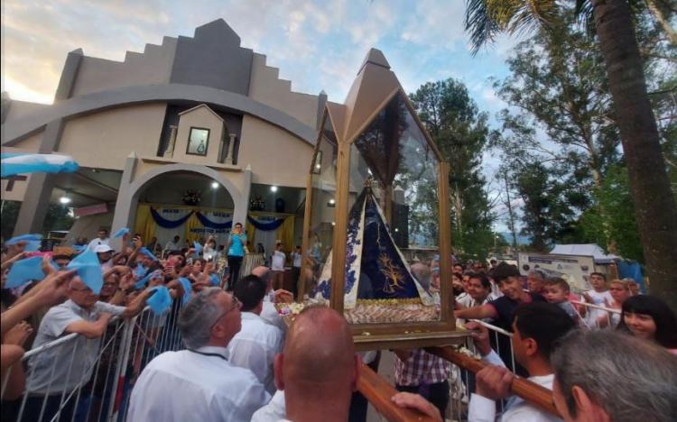
<instances>
[{"instance_id":1,"label":"gray-haired head of man in the bottom right corner","mask_svg":"<svg viewBox=\"0 0 677 422\"><path fill-rule=\"evenodd\" d=\"M555 406L566 421L667 422L677 415L677 357L614 331L576 331L552 353Z\"/></svg>"}]
</instances>

